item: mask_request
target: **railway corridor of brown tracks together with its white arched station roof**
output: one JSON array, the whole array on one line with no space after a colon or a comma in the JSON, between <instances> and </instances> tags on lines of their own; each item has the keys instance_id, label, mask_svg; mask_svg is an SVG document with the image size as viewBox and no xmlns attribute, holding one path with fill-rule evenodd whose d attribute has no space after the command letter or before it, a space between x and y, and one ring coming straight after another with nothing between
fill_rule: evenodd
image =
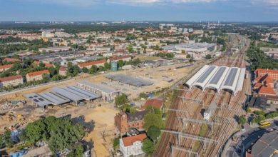
<instances>
[{"instance_id":1,"label":"railway corridor of brown tracks together with its white arched station roof","mask_svg":"<svg viewBox=\"0 0 278 157\"><path fill-rule=\"evenodd\" d=\"M222 156L225 142L240 129L237 121L251 94L244 61L249 41L244 41L237 54L200 66L172 89L173 103L165 108L168 118L155 156Z\"/></svg>"}]
</instances>

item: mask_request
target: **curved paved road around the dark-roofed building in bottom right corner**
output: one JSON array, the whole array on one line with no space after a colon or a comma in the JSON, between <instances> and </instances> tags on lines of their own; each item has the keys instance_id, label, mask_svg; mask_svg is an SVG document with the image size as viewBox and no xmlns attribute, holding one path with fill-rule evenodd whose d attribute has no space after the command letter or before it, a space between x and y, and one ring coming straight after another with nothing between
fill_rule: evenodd
<instances>
[{"instance_id":1,"label":"curved paved road around the dark-roofed building in bottom right corner","mask_svg":"<svg viewBox=\"0 0 278 157\"><path fill-rule=\"evenodd\" d=\"M264 133L271 128L278 129L278 121L274 121L270 126L267 128L249 128L248 131L241 132L240 140L238 143L231 143L230 146L227 148L225 156L229 157L238 157L244 156L245 151L252 146L252 143L255 143L259 137L261 137Z\"/></svg>"}]
</instances>

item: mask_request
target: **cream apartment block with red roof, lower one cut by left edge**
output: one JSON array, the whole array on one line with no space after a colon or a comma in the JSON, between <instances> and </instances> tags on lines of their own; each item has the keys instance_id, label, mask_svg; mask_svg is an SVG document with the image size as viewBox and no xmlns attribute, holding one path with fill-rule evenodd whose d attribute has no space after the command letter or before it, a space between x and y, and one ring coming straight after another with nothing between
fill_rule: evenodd
<instances>
[{"instance_id":1,"label":"cream apartment block with red roof, lower one cut by left edge","mask_svg":"<svg viewBox=\"0 0 278 157\"><path fill-rule=\"evenodd\" d=\"M21 75L0 78L0 88L8 86L19 86L23 83L24 81Z\"/></svg>"}]
</instances>

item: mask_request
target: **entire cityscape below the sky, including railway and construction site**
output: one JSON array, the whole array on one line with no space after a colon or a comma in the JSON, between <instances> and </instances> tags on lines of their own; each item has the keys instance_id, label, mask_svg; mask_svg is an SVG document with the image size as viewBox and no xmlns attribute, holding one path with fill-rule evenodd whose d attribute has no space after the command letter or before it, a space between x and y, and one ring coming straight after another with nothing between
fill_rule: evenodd
<instances>
[{"instance_id":1,"label":"entire cityscape below the sky, including railway and construction site","mask_svg":"<svg viewBox=\"0 0 278 157\"><path fill-rule=\"evenodd\" d=\"M277 24L0 24L1 156L277 156Z\"/></svg>"}]
</instances>

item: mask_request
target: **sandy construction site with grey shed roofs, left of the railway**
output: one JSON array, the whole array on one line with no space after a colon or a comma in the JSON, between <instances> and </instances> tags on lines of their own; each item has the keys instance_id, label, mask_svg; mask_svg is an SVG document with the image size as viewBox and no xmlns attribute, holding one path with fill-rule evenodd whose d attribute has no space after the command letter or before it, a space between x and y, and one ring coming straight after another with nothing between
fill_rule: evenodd
<instances>
[{"instance_id":1,"label":"sandy construction site with grey shed roofs, left of the railway","mask_svg":"<svg viewBox=\"0 0 278 157\"><path fill-rule=\"evenodd\" d=\"M180 80L200 64L201 61L190 66L175 64L96 76L81 74L67 81L4 93L0 96L0 133L24 128L27 123L42 116L84 116L86 122L95 123L94 130L85 137L86 141L94 143L92 152L96 156L109 156L115 138L114 116L119 110L114 108L114 103L110 101L113 96L108 94L125 93L130 101L133 101L133 98L138 98L140 92L168 88L175 83L173 80ZM93 95L102 98L95 99ZM85 105L80 105L80 102Z\"/></svg>"}]
</instances>

